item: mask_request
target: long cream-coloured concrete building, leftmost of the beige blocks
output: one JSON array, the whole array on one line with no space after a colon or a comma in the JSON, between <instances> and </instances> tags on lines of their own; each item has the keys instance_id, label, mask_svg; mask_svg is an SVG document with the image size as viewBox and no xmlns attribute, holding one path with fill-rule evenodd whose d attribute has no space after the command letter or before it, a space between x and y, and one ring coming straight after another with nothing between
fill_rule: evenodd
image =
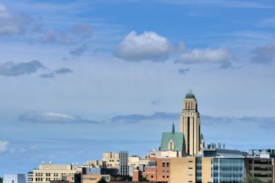
<instances>
[{"instance_id":1,"label":"long cream-coloured concrete building, leftmost of the beige blocks","mask_svg":"<svg viewBox=\"0 0 275 183\"><path fill-rule=\"evenodd\" d=\"M72 164L45 164L39 165L39 169L34 169L28 173L28 183L50 183L51 180L62 180L63 175L74 175L81 173L82 166Z\"/></svg>"}]
</instances>

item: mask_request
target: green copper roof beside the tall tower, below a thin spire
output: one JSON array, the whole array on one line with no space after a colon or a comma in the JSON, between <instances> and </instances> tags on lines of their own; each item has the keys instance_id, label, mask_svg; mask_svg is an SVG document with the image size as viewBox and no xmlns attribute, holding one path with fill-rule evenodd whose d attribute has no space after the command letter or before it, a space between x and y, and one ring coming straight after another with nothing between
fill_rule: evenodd
<instances>
[{"instance_id":1,"label":"green copper roof beside the tall tower, below a thin spire","mask_svg":"<svg viewBox=\"0 0 275 183\"><path fill-rule=\"evenodd\" d=\"M184 147L184 133L183 132L163 132L161 151L168 151L168 143L173 140L175 144L175 151L183 151Z\"/></svg>"}]
</instances>

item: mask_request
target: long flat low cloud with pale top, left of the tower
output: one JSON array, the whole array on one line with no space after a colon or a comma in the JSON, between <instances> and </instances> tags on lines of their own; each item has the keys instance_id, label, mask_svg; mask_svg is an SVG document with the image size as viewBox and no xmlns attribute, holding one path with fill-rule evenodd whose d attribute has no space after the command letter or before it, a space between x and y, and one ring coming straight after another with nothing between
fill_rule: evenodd
<instances>
[{"instance_id":1,"label":"long flat low cloud with pale top, left of the tower","mask_svg":"<svg viewBox=\"0 0 275 183\"><path fill-rule=\"evenodd\" d=\"M67 114L48 112L41 113L37 111L27 112L19 116L19 120L28 121L28 122L54 122L54 123L66 123L66 122L90 122L98 123L93 120L85 120L78 116L69 116Z\"/></svg>"}]
</instances>

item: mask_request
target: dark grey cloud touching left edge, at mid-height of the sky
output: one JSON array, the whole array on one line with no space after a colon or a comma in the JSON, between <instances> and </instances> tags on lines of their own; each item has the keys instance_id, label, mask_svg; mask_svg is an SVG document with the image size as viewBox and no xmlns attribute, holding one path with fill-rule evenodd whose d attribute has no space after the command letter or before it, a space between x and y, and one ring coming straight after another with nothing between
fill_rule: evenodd
<instances>
[{"instance_id":1,"label":"dark grey cloud touching left edge, at mid-height of the sky","mask_svg":"<svg viewBox=\"0 0 275 183\"><path fill-rule=\"evenodd\" d=\"M0 75L19 76L23 74L32 74L38 69L45 69L39 61L30 61L28 63L6 62L0 64Z\"/></svg>"}]
</instances>

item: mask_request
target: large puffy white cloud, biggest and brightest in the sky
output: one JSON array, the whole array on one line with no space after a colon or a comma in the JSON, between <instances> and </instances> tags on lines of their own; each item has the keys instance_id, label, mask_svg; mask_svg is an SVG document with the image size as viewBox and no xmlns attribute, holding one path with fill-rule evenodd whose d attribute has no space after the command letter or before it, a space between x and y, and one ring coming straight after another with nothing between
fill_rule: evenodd
<instances>
[{"instance_id":1,"label":"large puffy white cloud, biggest and brightest in the sky","mask_svg":"<svg viewBox=\"0 0 275 183\"><path fill-rule=\"evenodd\" d=\"M181 43L176 48L166 37L155 32L137 35L137 32L132 31L115 48L114 54L126 61L164 61L183 47L184 44Z\"/></svg>"}]
</instances>

